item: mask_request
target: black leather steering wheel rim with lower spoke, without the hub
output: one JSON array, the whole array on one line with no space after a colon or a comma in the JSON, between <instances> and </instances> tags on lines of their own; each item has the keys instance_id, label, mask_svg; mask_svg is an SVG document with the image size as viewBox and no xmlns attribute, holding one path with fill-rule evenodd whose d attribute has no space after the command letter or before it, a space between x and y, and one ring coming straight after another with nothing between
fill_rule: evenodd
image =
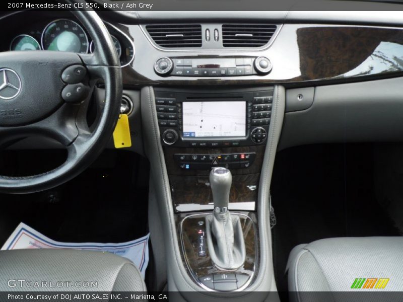
<instances>
[{"instance_id":1,"label":"black leather steering wheel rim with lower spoke, without the hub","mask_svg":"<svg viewBox=\"0 0 403 302\"><path fill-rule=\"evenodd\" d=\"M81 3L82 0L68 0L67 2ZM111 138L119 115L122 97L122 72L119 57L104 23L94 11L72 11L72 13L89 32L95 44L94 53L86 55L74 54L74 56L79 57L79 60L87 68L90 78L102 79L105 84L105 105L98 125L91 132L84 121L79 119L80 112L85 110L85 104L62 104L50 117L46 117L45 122L40 121L16 127L0 127L0 135L3 133L11 133L17 136L27 135L27 133L37 135L42 131L49 134L50 137L59 138L68 150L66 161L52 171L25 177L0 176L0 192L33 193L47 190L69 181L97 158ZM56 52L43 50L42 52L50 56L50 64L53 63L52 55L57 57ZM17 54L0 54L0 64L2 64L2 57L7 58L7 55L12 58L13 55ZM39 64L42 58L41 54L32 55L34 55L34 59ZM76 60L73 54L68 55L68 53L65 53L65 56L71 56L72 60ZM59 61L62 60L58 58L58 64L60 65ZM93 82L93 85L95 85L95 82ZM53 119L52 116L54 116ZM69 122L63 120L64 116L69 116ZM60 129L64 132L61 130L56 131L57 129L54 129L55 125L60 126ZM46 129L44 130L44 128ZM66 134L69 131L72 131L73 134Z\"/></svg>"}]
</instances>

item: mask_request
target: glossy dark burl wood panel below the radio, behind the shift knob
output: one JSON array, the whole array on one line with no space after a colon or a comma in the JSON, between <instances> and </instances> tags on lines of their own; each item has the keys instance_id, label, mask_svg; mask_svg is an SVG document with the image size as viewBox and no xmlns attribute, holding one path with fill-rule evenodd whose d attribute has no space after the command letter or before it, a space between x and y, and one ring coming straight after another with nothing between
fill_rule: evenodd
<instances>
[{"instance_id":1,"label":"glossy dark burl wood panel below the radio, behind the shift knob","mask_svg":"<svg viewBox=\"0 0 403 302\"><path fill-rule=\"evenodd\" d=\"M184 170L174 161L174 154L231 154L256 153L249 168L233 169L230 191L230 209L255 210L260 171L265 145L224 148L164 147L173 207L176 212L213 209L209 184L210 170ZM241 204L242 203L242 204Z\"/></svg>"}]
</instances>

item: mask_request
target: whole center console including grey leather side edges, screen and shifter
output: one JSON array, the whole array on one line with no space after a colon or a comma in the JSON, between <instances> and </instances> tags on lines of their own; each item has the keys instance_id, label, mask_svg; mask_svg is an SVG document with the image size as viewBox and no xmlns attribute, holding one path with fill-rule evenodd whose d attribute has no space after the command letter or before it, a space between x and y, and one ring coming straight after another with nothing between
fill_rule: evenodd
<instances>
[{"instance_id":1,"label":"whole center console including grey leather side edges, screen and shifter","mask_svg":"<svg viewBox=\"0 0 403 302\"><path fill-rule=\"evenodd\" d=\"M142 90L150 219L163 218L168 286L184 300L276 291L269 188L284 99L281 86Z\"/></svg>"}]
</instances>

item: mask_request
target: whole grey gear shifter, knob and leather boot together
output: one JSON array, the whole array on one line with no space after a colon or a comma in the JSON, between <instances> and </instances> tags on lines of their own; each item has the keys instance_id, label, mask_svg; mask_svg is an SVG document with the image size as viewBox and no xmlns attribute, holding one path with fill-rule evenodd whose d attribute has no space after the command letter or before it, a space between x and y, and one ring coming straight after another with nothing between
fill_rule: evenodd
<instances>
[{"instance_id":1,"label":"whole grey gear shifter, knob and leather boot together","mask_svg":"<svg viewBox=\"0 0 403 302\"><path fill-rule=\"evenodd\" d=\"M211 170L214 211L206 217L207 244L212 261L223 270L238 269L246 257L241 222L237 215L228 211L231 183L232 175L228 169L218 167Z\"/></svg>"}]
</instances>

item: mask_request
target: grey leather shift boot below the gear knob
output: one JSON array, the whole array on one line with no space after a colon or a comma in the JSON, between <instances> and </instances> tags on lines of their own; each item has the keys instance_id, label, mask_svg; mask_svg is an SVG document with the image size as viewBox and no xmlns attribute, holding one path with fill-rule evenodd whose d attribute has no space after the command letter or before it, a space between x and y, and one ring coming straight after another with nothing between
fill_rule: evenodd
<instances>
[{"instance_id":1,"label":"grey leather shift boot below the gear knob","mask_svg":"<svg viewBox=\"0 0 403 302\"><path fill-rule=\"evenodd\" d=\"M245 242L237 215L213 212L206 217L206 233L210 257L218 268L236 270L243 265Z\"/></svg>"}]
</instances>

